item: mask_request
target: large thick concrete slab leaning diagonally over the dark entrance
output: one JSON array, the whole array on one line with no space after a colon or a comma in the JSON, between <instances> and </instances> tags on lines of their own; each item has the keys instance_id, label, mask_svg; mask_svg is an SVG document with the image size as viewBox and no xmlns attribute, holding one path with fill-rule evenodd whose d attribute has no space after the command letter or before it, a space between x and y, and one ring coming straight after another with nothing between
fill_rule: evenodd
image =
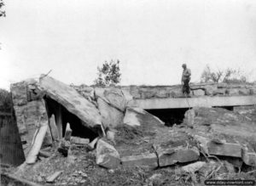
<instances>
[{"instance_id":1,"label":"large thick concrete slab leaning diagonally over the dark entrance","mask_svg":"<svg viewBox=\"0 0 256 186\"><path fill-rule=\"evenodd\" d=\"M55 80L49 76L40 77L40 87L43 87L51 99L62 104L73 115L86 123L86 127L101 125L101 116L94 104L84 99L73 87Z\"/></svg>"}]
</instances>

